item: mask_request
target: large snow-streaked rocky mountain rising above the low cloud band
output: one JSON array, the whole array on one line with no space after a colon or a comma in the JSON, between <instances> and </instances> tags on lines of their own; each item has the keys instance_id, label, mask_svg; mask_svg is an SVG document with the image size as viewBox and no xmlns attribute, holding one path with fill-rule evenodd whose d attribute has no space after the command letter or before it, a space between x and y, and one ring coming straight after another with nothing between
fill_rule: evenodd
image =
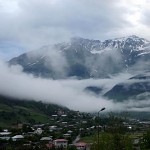
<instances>
[{"instance_id":1,"label":"large snow-streaked rocky mountain rising above the low cloud band","mask_svg":"<svg viewBox=\"0 0 150 150\"><path fill-rule=\"evenodd\" d=\"M47 78L103 78L122 71L149 70L150 42L137 36L105 41L72 38L9 61L23 71ZM142 63L141 63L142 62ZM140 65L139 65L140 64Z\"/></svg>"}]
</instances>

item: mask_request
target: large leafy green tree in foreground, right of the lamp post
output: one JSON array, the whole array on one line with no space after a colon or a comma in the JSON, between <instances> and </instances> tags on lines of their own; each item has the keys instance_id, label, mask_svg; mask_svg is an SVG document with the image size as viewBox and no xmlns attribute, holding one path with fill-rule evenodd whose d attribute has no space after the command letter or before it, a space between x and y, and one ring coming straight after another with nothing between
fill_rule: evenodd
<instances>
[{"instance_id":1,"label":"large leafy green tree in foreground, right of the lamp post","mask_svg":"<svg viewBox=\"0 0 150 150\"><path fill-rule=\"evenodd\" d=\"M121 117L116 117L110 114L108 119L108 126L105 132L101 133L99 136L99 146L95 142L91 146L91 150L132 150L133 144L130 136L126 134L126 127L123 125L123 120ZM97 136L95 136L95 140Z\"/></svg>"}]
</instances>

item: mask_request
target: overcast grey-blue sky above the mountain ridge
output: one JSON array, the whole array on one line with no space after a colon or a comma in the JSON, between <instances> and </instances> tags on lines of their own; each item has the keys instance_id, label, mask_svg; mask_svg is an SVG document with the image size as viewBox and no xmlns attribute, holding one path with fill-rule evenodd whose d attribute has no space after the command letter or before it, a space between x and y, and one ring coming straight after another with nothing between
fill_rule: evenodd
<instances>
[{"instance_id":1,"label":"overcast grey-blue sky above the mountain ridge","mask_svg":"<svg viewBox=\"0 0 150 150\"><path fill-rule=\"evenodd\" d=\"M0 0L0 58L79 36L150 40L149 0Z\"/></svg>"}]
</instances>

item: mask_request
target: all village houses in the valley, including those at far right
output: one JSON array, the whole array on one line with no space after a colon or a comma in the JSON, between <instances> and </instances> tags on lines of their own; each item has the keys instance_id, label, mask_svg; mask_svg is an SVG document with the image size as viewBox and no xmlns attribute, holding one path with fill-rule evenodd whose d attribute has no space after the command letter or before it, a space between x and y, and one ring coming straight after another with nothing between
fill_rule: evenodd
<instances>
[{"instance_id":1,"label":"all village houses in the valley, including those at far right","mask_svg":"<svg viewBox=\"0 0 150 150\"><path fill-rule=\"evenodd\" d=\"M81 142L78 135L82 136L83 133L83 136L88 136L95 134L97 132L97 128L101 129L103 132L109 128L107 125L96 125L93 116L79 114L79 112L73 114L72 116L73 118L68 117L68 114L64 114L64 112L61 111L59 111L59 114L52 115L50 119L53 123L47 125L49 131L49 134L47 135L44 134L46 124L40 124L30 126L32 131L26 133L22 132L21 134L14 134L11 131L4 129L2 132L0 132L0 139L6 141L11 140L15 143L16 141L24 140L26 136L39 136L40 138L38 142L44 144L48 149L53 147L62 147L66 149L68 146L74 145L78 150L89 150L89 144ZM149 128L150 122L129 120L128 122L123 122L123 125L132 133L135 133L136 131L145 132L145 130ZM22 126L20 126L20 128L22 128ZM52 133L61 134L61 138L59 136L54 137L51 135ZM71 143L69 141L70 138L73 140ZM136 148L139 148L139 140L140 137L136 137L134 139Z\"/></svg>"}]
</instances>

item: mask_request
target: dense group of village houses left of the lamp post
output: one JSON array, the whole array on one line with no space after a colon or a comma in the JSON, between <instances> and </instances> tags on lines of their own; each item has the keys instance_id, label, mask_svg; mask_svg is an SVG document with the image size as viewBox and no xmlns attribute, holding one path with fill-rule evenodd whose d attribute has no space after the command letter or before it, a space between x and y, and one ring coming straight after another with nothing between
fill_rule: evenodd
<instances>
[{"instance_id":1,"label":"dense group of village houses left of the lamp post","mask_svg":"<svg viewBox=\"0 0 150 150\"><path fill-rule=\"evenodd\" d=\"M23 132L23 125L19 125L18 128L21 129L21 134L15 134L13 132L8 131L7 129L4 129L2 132L0 132L0 140L5 140L5 141L12 141L13 143L17 141L25 141L26 137L40 137L38 143L44 144L48 149L51 148L67 148L68 146L74 145L77 149L79 150L86 150L88 144L84 142L79 142L76 140L76 142L73 142L82 130L82 128L78 128L79 124L86 124L87 121L83 121L82 118L80 118L77 115L74 115L74 117L77 118L75 120L75 124L72 124L73 118L68 119L68 116L66 114L56 114L52 115L50 119L53 121L53 124L51 125L46 125L46 124L37 124L37 125L29 125L30 128L32 129L31 131L28 131L26 133ZM59 118L59 119L58 119ZM28 125L27 125L28 126ZM45 126L47 126L49 134L45 135ZM65 132L63 132L65 130ZM75 133L75 131L79 131ZM53 137L51 135L52 133L60 133L60 137ZM50 136L51 135L51 136ZM73 142L70 143L70 140ZM32 142L32 141L31 141ZM33 143L33 142L32 142ZM23 145L31 145L31 143L25 143L23 142ZM89 147L89 146L88 146Z\"/></svg>"}]
</instances>

